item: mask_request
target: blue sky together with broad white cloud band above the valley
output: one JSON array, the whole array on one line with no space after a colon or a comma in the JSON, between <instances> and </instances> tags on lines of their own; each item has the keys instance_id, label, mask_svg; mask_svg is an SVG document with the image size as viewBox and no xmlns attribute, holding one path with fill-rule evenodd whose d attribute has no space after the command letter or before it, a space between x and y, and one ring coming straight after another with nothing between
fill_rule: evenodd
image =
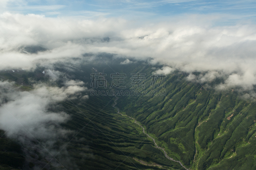
<instances>
[{"instance_id":1,"label":"blue sky together with broad white cloud band above the valley","mask_svg":"<svg viewBox=\"0 0 256 170\"><path fill-rule=\"evenodd\" d=\"M248 90L256 84L255 1L1 0L1 4L0 69L72 63L73 57L84 53L110 53L124 61L150 58L151 64L188 73L226 75L227 84L220 89L243 85ZM31 45L49 50L22 53Z\"/></svg>"}]
</instances>

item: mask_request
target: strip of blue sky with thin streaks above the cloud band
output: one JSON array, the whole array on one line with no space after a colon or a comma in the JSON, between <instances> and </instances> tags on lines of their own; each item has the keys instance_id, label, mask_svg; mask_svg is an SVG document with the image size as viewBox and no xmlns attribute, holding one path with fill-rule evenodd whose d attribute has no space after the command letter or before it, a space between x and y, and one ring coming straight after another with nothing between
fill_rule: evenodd
<instances>
[{"instance_id":1,"label":"strip of blue sky with thin streaks above the cloud band","mask_svg":"<svg viewBox=\"0 0 256 170\"><path fill-rule=\"evenodd\" d=\"M5 0L6 1L6 0ZM256 1L238 0L27 0L7 1L4 11L23 14L44 14L56 17L52 10L61 16L122 17L143 20L173 17L184 14L219 15L225 21L256 19ZM128 12L127 12L128 11ZM50 15L52 14L52 15Z\"/></svg>"}]
</instances>

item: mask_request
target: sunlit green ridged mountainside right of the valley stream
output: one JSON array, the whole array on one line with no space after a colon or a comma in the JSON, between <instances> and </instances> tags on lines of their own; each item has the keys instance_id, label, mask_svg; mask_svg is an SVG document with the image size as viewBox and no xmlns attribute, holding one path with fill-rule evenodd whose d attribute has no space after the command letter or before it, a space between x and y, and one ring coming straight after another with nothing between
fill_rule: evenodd
<instances>
[{"instance_id":1,"label":"sunlit green ridged mountainside right of the valley stream","mask_svg":"<svg viewBox=\"0 0 256 170\"><path fill-rule=\"evenodd\" d=\"M166 96L128 97L117 106L191 169L255 169L255 103L236 91L216 92L185 77L169 75L161 89Z\"/></svg>"}]
</instances>

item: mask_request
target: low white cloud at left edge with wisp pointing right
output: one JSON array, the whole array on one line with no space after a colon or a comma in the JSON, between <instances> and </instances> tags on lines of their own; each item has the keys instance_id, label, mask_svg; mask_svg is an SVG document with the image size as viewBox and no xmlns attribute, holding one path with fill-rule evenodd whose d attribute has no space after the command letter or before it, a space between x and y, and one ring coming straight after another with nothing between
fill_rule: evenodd
<instances>
[{"instance_id":1,"label":"low white cloud at left edge with wisp pointing right","mask_svg":"<svg viewBox=\"0 0 256 170\"><path fill-rule=\"evenodd\" d=\"M58 126L69 116L64 112L53 112L50 108L86 89L77 85L59 88L41 84L26 92L18 91L6 81L0 82L0 87L0 129L5 130L9 137L23 135L36 139L54 139L69 133L69 130Z\"/></svg>"}]
</instances>

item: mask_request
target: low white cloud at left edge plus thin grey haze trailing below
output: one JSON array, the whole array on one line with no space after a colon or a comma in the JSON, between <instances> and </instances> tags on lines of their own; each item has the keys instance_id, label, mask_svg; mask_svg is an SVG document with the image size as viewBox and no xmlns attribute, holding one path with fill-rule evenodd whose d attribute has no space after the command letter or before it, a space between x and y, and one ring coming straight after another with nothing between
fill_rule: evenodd
<instances>
[{"instance_id":1,"label":"low white cloud at left edge plus thin grey haze trailing below","mask_svg":"<svg viewBox=\"0 0 256 170\"><path fill-rule=\"evenodd\" d=\"M49 152L56 155L61 150L58 157L69 160L68 152L61 144L63 139L74 135L74 131L61 126L70 116L60 111L59 104L67 100L67 96L81 96L79 92L84 89L76 85L59 88L40 84L27 92L20 91L12 82L0 81L0 129L7 137L20 142L26 159L32 159L29 155L34 150L47 160Z\"/></svg>"}]
</instances>

